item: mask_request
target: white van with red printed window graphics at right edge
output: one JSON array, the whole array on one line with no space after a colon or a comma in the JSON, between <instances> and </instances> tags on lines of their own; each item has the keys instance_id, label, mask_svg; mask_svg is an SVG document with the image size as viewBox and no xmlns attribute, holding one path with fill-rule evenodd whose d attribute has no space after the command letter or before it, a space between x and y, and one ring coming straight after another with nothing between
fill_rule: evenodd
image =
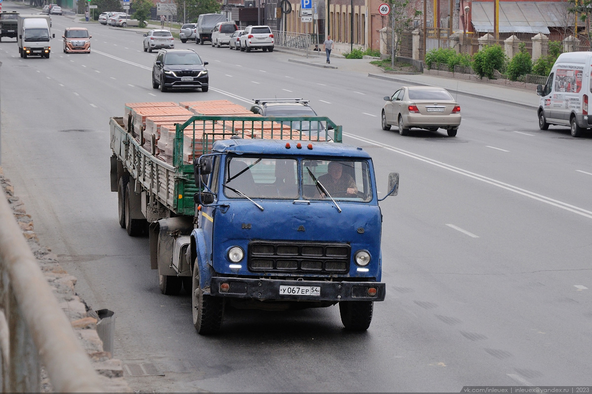
<instances>
[{"instance_id":1,"label":"white van with red printed window graphics at right edge","mask_svg":"<svg viewBox=\"0 0 592 394\"><path fill-rule=\"evenodd\" d=\"M592 97L590 76L592 52L568 52L559 55L547 83L536 87L541 96L538 115L539 128L549 125L570 126L571 135L580 137L592 128L592 114L588 116L588 100Z\"/></svg>"}]
</instances>

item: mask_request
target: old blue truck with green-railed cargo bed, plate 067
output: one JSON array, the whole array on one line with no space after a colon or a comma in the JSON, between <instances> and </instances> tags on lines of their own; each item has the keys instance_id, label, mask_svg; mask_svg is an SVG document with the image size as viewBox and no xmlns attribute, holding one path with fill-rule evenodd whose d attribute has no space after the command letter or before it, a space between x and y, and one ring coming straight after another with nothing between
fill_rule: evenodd
<instances>
[{"instance_id":1,"label":"old blue truck with green-railed cargo bed, plate 067","mask_svg":"<svg viewBox=\"0 0 592 394\"><path fill-rule=\"evenodd\" d=\"M300 122L322 127L303 132ZM148 233L160 291L191 294L198 333L217 333L227 306L339 304L346 330L368 329L385 298L381 199L372 158L341 143L341 126L323 116L193 116L176 125L170 164L128 129L111 118L120 224ZM387 196L397 191L391 172Z\"/></svg>"}]
</instances>

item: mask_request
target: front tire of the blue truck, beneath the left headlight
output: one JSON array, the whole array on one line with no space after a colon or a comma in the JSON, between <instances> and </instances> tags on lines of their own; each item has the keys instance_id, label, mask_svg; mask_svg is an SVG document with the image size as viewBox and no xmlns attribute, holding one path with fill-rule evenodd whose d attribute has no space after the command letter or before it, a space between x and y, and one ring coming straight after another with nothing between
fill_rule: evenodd
<instances>
[{"instance_id":1,"label":"front tire of the blue truck, beneath the left headlight","mask_svg":"<svg viewBox=\"0 0 592 394\"><path fill-rule=\"evenodd\" d=\"M222 327L224 299L204 294L200 288L200 269L197 260L193 268L191 310L193 325L200 335L215 334Z\"/></svg>"}]
</instances>

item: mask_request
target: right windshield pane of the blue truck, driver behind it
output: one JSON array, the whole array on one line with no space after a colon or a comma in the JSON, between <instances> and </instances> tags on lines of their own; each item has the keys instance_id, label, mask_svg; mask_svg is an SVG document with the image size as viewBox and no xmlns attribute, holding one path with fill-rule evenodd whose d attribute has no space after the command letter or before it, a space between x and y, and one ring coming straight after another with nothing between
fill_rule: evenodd
<instances>
[{"instance_id":1,"label":"right windshield pane of the blue truck, driver behind it","mask_svg":"<svg viewBox=\"0 0 592 394\"><path fill-rule=\"evenodd\" d=\"M303 160L303 197L307 200L372 200L368 162Z\"/></svg>"}]
</instances>

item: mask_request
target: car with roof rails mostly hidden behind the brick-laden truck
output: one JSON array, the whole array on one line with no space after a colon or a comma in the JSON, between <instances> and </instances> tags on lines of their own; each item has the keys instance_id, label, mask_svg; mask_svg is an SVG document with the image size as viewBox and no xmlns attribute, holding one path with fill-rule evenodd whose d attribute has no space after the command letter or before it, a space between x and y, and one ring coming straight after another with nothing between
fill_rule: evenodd
<instances>
[{"instance_id":1,"label":"car with roof rails mostly hidden behind the brick-laden truck","mask_svg":"<svg viewBox=\"0 0 592 394\"><path fill-rule=\"evenodd\" d=\"M314 109L303 99L255 99L250 108L253 113L262 116L318 116ZM292 130L320 132L324 136L325 128L320 122L282 122Z\"/></svg>"}]
</instances>

